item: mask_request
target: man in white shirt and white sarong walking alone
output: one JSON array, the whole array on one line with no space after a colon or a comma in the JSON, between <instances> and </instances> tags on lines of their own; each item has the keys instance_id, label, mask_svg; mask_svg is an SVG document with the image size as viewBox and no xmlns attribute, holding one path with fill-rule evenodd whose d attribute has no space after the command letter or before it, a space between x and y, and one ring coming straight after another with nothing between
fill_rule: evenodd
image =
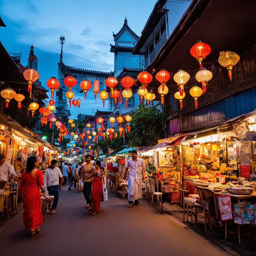
<instances>
[{"instance_id":1,"label":"man in white shirt and white sarong walking alone","mask_svg":"<svg viewBox=\"0 0 256 256\"><path fill-rule=\"evenodd\" d=\"M137 157L137 151L133 150L131 153L132 158L129 159L126 163L126 168L124 172L124 177L129 172L128 178L128 200L129 200L129 208L132 208L132 205L140 204L138 199L142 198L142 177L141 170L143 173L143 179L145 179L145 170L146 166L144 160L142 158Z\"/></svg>"}]
</instances>

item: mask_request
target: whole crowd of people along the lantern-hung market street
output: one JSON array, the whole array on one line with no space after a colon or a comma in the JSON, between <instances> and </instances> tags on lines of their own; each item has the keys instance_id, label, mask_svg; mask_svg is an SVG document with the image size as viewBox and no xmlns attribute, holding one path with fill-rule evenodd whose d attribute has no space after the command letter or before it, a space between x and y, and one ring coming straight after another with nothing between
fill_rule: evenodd
<instances>
[{"instance_id":1,"label":"whole crowd of people along the lantern-hung market street","mask_svg":"<svg viewBox=\"0 0 256 256\"><path fill-rule=\"evenodd\" d=\"M126 177L130 168L128 178L129 208L139 204L138 199L142 198L141 173L145 178L144 161L137 157L135 150L132 151L131 156L132 158L128 160L124 173L124 177ZM99 212L100 202L103 201L104 186L102 179L105 177L104 168L101 168L100 161L91 161L90 155L87 155L85 159L86 161L83 164L81 162L78 165L64 163L63 167L57 167L57 160L53 159L44 175L41 170L38 170L39 161L36 156L28 157L26 168L20 166L21 163L19 163L19 166L23 168L23 173L18 195L23 200L24 225L27 230L30 230L31 236L40 231L39 226L43 222L41 196L44 196L46 200L49 199L49 196L54 198L51 209L48 209L48 212L54 214L56 213L61 186L69 185L68 191L70 191L74 184L75 189L83 191L86 200L86 212L92 211L92 215ZM16 174L14 167L10 163L6 163L5 160L6 157L0 155L0 180L13 179Z\"/></svg>"}]
</instances>

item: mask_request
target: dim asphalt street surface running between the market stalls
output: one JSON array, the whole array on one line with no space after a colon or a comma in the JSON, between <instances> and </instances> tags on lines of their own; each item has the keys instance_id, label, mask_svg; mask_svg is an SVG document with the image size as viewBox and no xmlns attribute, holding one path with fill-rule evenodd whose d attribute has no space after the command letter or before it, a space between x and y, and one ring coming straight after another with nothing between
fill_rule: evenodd
<instances>
[{"instance_id":1,"label":"dim asphalt street surface running between the market stalls","mask_svg":"<svg viewBox=\"0 0 256 256\"><path fill-rule=\"evenodd\" d=\"M231 254L220 249L145 199L128 208L108 191L96 215L86 213L83 193L62 187L56 214L47 214L34 237L23 225L22 211L0 230L1 255L179 255Z\"/></svg>"}]
</instances>

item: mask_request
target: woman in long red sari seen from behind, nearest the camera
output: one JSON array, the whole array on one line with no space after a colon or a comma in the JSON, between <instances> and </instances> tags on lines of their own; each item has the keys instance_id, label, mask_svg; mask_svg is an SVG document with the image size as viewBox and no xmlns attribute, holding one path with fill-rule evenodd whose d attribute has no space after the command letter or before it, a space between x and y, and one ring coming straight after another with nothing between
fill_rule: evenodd
<instances>
[{"instance_id":1,"label":"woman in long red sari seen from behind, nearest the camera","mask_svg":"<svg viewBox=\"0 0 256 256\"><path fill-rule=\"evenodd\" d=\"M39 226L43 223L39 186L45 198L48 198L44 189L44 177L37 169L38 166L39 161L36 156L28 157L27 167L22 173L18 190L18 195L23 198L23 223L25 228L30 230L31 236L40 231Z\"/></svg>"}]
</instances>

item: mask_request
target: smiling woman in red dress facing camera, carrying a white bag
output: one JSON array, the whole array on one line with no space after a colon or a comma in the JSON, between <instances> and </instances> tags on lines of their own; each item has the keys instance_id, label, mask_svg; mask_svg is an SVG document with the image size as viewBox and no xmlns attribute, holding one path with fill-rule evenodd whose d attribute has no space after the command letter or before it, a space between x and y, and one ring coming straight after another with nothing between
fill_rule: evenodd
<instances>
[{"instance_id":1,"label":"smiling woman in red dress facing camera, carrying a white bag","mask_svg":"<svg viewBox=\"0 0 256 256\"><path fill-rule=\"evenodd\" d=\"M100 167L100 161L96 161L93 173L90 176L86 177L86 179L93 177L91 193L93 209L92 215L95 215L100 210L100 202L103 201L102 179L105 177L105 175Z\"/></svg>"}]
</instances>

